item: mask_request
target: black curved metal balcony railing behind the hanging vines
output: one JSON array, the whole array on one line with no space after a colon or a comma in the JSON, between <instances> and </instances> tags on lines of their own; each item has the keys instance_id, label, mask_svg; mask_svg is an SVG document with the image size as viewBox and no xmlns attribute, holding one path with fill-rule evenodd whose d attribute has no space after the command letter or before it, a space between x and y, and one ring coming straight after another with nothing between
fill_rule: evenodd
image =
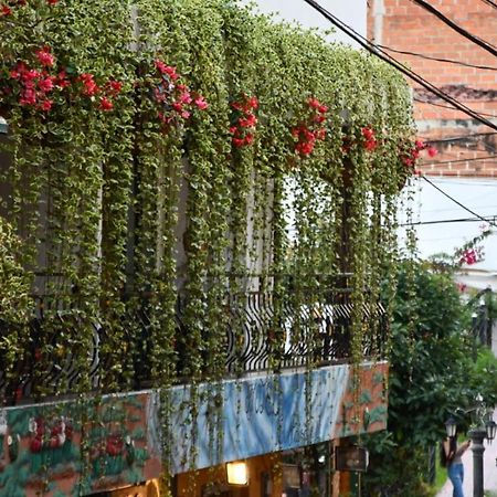
<instances>
[{"instance_id":1,"label":"black curved metal balcony railing behind the hanging vines","mask_svg":"<svg viewBox=\"0 0 497 497\"><path fill-rule=\"evenodd\" d=\"M226 347L225 372L243 374L269 369L298 368L347 361L351 355L352 305L349 290L322 294L313 304L296 302L290 293L276 297L272 292L244 292L225 295L228 309L225 320ZM120 315L121 339L129 350L131 377L126 377L120 389L151 387L150 355L154 320L144 305ZM186 299L178 298L176 322L178 335L188 335ZM77 309L64 310L52 303L50 319L46 318L46 298L36 298L36 311L29 325L15 325L0 319L0 339L12 335L23 337L22 348L13 362L10 374L4 373L9 350L0 350L0 394L10 403L29 399L35 391L46 395L71 394L81 381L78 364L85 363L86 387L101 389L102 378L113 364L105 360L103 349L110 340L113 329L102 322L88 321ZM381 357L387 331L387 316L381 304L364 304L362 355ZM28 332L27 328L28 327ZM71 337L82 327L91 327L91 341L82 345ZM86 328L87 330L87 328ZM278 336L275 339L275 335ZM8 343L3 340L3 343ZM42 352L41 352L42 351ZM43 361L39 355L43 355ZM181 350L177 351L181 362ZM40 363L49 364L46 370ZM126 367L126 364L124 364ZM179 374L181 376L181 374ZM183 381L188 380L183 378Z\"/></svg>"}]
</instances>

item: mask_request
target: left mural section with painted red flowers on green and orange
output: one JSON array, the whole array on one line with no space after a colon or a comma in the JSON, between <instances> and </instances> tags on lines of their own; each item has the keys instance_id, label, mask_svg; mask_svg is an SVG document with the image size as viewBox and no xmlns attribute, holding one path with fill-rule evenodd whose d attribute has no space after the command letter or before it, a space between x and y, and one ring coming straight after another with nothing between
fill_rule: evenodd
<instances>
[{"instance_id":1,"label":"left mural section with painted red flowers on green and orange","mask_svg":"<svg viewBox=\"0 0 497 497\"><path fill-rule=\"evenodd\" d=\"M0 496L80 496L160 470L147 394L0 411Z\"/></svg>"}]
</instances>

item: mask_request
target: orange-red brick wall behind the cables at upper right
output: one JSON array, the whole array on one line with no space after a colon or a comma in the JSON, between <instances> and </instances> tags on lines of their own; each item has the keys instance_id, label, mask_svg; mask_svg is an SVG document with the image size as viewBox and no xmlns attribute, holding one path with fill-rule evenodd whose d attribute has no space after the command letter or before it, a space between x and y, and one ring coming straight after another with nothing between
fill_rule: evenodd
<instances>
[{"instance_id":1,"label":"orange-red brick wall behind the cables at upper right","mask_svg":"<svg viewBox=\"0 0 497 497\"><path fill-rule=\"evenodd\" d=\"M497 45L497 9L482 0L430 0L430 3L472 34ZM497 68L497 57L411 0L369 0L368 36L374 43L400 51ZM497 124L497 71L390 53ZM423 91L416 83L412 86L419 136L443 140L433 144L440 154L420 169L431 176L497 178L497 158L474 160L497 156L497 134L458 110L440 107L448 104ZM454 137L463 138L450 139Z\"/></svg>"}]
</instances>

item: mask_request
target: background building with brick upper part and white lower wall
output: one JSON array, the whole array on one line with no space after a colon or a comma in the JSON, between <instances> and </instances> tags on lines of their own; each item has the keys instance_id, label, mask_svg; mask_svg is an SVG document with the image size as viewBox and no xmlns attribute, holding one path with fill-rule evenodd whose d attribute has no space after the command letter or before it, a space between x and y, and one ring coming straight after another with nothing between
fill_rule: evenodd
<instances>
[{"instance_id":1,"label":"background building with brick upper part and white lower wall","mask_svg":"<svg viewBox=\"0 0 497 497\"><path fill-rule=\"evenodd\" d=\"M444 0L434 7L467 32L490 45L497 43L496 10L490 2ZM433 13L409 0L373 0L368 9L368 38L451 97L497 123L495 56ZM419 137L438 150L420 170L443 192L495 223L497 134L416 83L410 84ZM416 232L424 257L453 253L480 233L480 220L424 180L419 181L415 202L413 221L421 223ZM441 222L425 224L433 221ZM495 285L496 234L483 246L484 261L467 267L474 277L461 276L476 288Z\"/></svg>"}]
</instances>

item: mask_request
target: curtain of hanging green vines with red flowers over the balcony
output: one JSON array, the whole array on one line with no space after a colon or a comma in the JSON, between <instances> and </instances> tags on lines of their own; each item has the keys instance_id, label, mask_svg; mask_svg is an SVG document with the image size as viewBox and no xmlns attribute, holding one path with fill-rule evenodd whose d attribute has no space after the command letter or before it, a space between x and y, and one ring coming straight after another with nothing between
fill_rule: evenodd
<instances>
[{"instance_id":1,"label":"curtain of hanging green vines with red flowers over the balcony","mask_svg":"<svg viewBox=\"0 0 497 497\"><path fill-rule=\"evenodd\" d=\"M362 309L380 303L382 284L393 287L396 197L424 149L412 145L399 74L236 0L0 7L1 215L40 318L1 328L6 402L27 391L19 364L38 379L35 400L144 378L220 381L229 325L240 337L233 357L244 348L226 295L248 289L272 295L261 340L277 372L287 300L315 308L343 273L361 359L364 334L378 332ZM4 281L2 294L20 295L15 278ZM313 314L294 321L315 350ZM44 381L68 353L68 373ZM34 422L40 453L52 436L71 438L66 421ZM124 458L125 444L108 441Z\"/></svg>"}]
</instances>

